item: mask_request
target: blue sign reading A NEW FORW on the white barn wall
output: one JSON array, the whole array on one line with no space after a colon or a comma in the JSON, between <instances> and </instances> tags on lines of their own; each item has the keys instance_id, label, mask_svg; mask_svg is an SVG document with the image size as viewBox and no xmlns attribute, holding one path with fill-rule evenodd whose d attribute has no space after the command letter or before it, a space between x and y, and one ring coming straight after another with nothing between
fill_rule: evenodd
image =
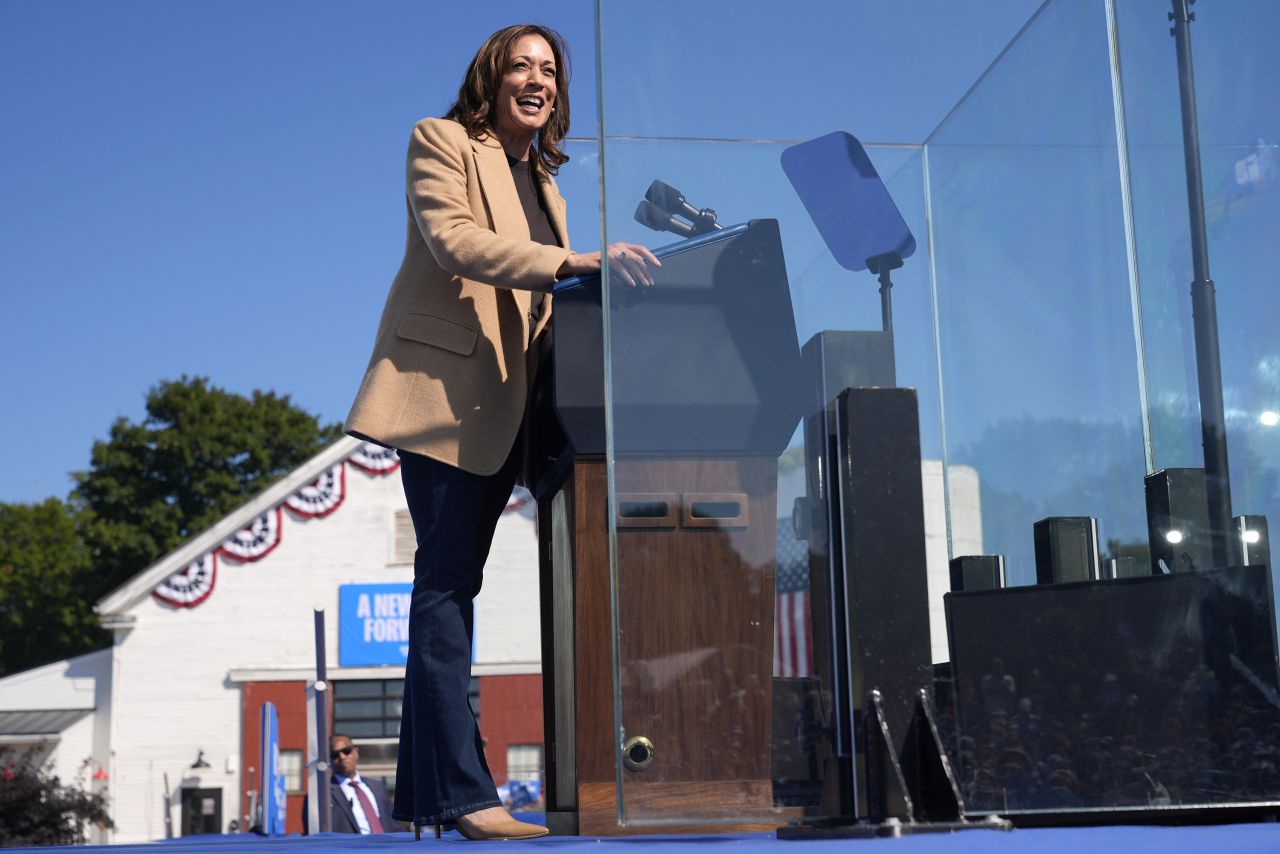
<instances>
[{"instance_id":1,"label":"blue sign reading A NEW FORW on the white barn wall","mask_svg":"<svg viewBox=\"0 0 1280 854\"><path fill-rule=\"evenodd\" d=\"M338 588L339 666L404 663L412 590L412 584L344 584Z\"/></svg>"}]
</instances>

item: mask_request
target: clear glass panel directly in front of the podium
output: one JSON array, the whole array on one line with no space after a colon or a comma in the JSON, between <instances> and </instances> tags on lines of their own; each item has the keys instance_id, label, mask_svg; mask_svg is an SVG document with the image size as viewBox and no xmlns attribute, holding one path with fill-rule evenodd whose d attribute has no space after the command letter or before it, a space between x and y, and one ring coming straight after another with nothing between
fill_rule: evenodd
<instances>
[{"instance_id":1,"label":"clear glass panel directly in front of the podium","mask_svg":"<svg viewBox=\"0 0 1280 854\"><path fill-rule=\"evenodd\" d=\"M884 10L812 6L831 27L865 23ZM936 593L941 615L946 589L929 264L927 252L916 251L892 270L888 334L877 277L833 257L782 157L832 131L859 136L859 105L870 115L873 104L892 96L870 88L833 93L832 81L845 72L832 54L815 59L803 85L755 92L750 113L733 108L745 92L710 85L724 97L699 117L708 124L690 124L685 117L696 113L689 110L707 99L663 85L671 69L655 68L637 90L635 64L625 58L666 55L696 38L703 24L690 19L689 31L672 32L662 8L644 9L643 20L636 9L600 6L604 225L609 242L653 247L662 266L652 287L611 280L594 286L603 288L598 294L588 286L559 293L556 303L557 371L575 316L589 316L593 305L603 315L611 401L609 446L600 451L608 451L602 480L613 508L604 521L614 543L617 720L609 723L617 726L608 748L616 761L586 789L579 781L580 803L598 803L604 793L609 805L603 817L580 813L580 828L591 832L593 822L618 819L759 826L838 814L855 809L854 793L846 787L824 803L823 787L854 762L849 699L836 697L847 679L836 685L828 636L835 630L815 617L815 607L837 607L829 567L840 520L828 501L840 479L835 398L846 385L918 389L906 394L904 433L914 440L908 443L914 458L904 470L915 489L919 548L905 572L919 592L909 645L927 672L934 639L925 590ZM814 18L778 22L740 12L736 4L710 10L740 40L732 61L792 74L797 67L781 58L806 51ZM896 31L884 27L886 35ZM753 129L735 140L680 138L705 136L695 124ZM877 145L872 137L865 152L923 247L919 146ZM852 165L846 157L831 168ZM681 206L681 196L692 210ZM703 230L712 209L721 228L690 233ZM672 214L684 222L675 232L637 222L660 227ZM928 513L920 498L925 469ZM941 622L936 640L945 650ZM581 755L584 745L577 749Z\"/></svg>"}]
</instances>

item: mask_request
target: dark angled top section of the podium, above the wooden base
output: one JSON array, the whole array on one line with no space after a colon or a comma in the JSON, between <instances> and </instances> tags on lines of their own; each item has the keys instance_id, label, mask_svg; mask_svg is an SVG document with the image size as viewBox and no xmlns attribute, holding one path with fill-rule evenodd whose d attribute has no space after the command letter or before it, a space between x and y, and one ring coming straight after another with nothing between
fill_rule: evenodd
<instances>
[{"instance_id":1,"label":"dark angled top section of the podium, above the wooden base","mask_svg":"<svg viewBox=\"0 0 1280 854\"><path fill-rule=\"evenodd\" d=\"M608 360L616 453L782 453L805 398L777 220L655 255L653 287L611 288L608 348L600 277L556 291L556 412L576 452L604 453Z\"/></svg>"}]
</instances>

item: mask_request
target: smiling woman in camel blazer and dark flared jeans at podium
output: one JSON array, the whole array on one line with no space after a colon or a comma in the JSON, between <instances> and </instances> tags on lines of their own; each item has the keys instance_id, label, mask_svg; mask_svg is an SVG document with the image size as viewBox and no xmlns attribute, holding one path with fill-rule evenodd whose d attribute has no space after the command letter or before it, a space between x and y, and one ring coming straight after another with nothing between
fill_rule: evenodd
<instances>
[{"instance_id":1,"label":"smiling woman in camel blazer and dark flared jeans at podium","mask_svg":"<svg viewBox=\"0 0 1280 854\"><path fill-rule=\"evenodd\" d=\"M568 160L562 37L493 33L443 119L408 145L408 237L346 430L398 448L417 536L394 818L468 839L545 828L502 808L467 702L472 598L520 471L517 435L557 279L598 273L568 248L554 175ZM623 284L652 284L643 246L605 255ZM439 832L439 831L438 831Z\"/></svg>"}]
</instances>

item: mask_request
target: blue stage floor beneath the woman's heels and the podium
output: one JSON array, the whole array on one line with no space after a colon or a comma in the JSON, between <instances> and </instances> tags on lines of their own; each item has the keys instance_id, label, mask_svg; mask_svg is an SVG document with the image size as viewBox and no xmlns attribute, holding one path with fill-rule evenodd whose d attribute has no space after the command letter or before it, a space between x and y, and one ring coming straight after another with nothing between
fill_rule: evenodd
<instances>
[{"instance_id":1,"label":"blue stage floor beneath the woman's heels and the podium","mask_svg":"<svg viewBox=\"0 0 1280 854\"><path fill-rule=\"evenodd\" d=\"M146 854L178 854L189 850L192 854L218 848L223 851L242 849L246 854L268 854L269 851L291 851L302 854L305 850L365 850L367 854L393 848L404 850L413 846L412 834L384 834L380 836L351 836L346 834L325 834L320 836L283 836L262 839L252 835L239 836L196 836L140 845L90 845L78 846L77 851L138 851ZM568 849L586 848L600 851L600 845L628 848L645 846L649 854L660 849L667 854L712 854L710 848L731 848L733 854L783 854L783 849L795 854L840 854L850 846L860 850L884 851L886 854L1277 854L1280 853L1280 823L1222 825L1212 827L1073 827L1073 828L1034 828L1010 832L972 830L959 834L923 834L900 839L872 840L813 840L782 841L772 834L724 834L717 836L628 836L628 837L581 837L544 836L525 842L472 842L458 834L445 834L440 841L434 836L422 837L416 846L424 845L462 845L468 849L500 846L507 854L525 849L526 854L538 850L549 853L557 849L572 854ZM29 849L36 850L36 849ZM38 850L50 850L49 848Z\"/></svg>"}]
</instances>

